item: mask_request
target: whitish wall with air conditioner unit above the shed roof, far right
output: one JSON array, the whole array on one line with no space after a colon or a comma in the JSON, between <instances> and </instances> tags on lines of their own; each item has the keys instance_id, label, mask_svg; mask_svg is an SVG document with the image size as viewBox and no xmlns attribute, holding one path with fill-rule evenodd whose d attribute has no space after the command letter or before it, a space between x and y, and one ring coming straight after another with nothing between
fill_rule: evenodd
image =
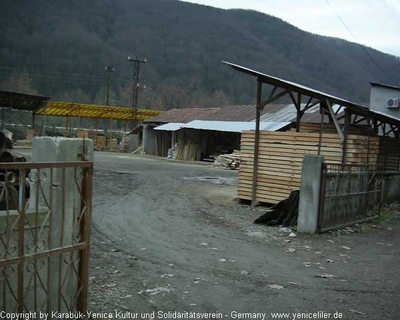
<instances>
[{"instance_id":1,"label":"whitish wall with air conditioner unit above the shed roof, far right","mask_svg":"<svg viewBox=\"0 0 400 320\"><path fill-rule=\"evenodd\" d=\"M400 119L400 108L388 109L386 107L387 98L400 99L400 90L373 85L369 102L370 109Z\"/></svg>"}]
</instances>

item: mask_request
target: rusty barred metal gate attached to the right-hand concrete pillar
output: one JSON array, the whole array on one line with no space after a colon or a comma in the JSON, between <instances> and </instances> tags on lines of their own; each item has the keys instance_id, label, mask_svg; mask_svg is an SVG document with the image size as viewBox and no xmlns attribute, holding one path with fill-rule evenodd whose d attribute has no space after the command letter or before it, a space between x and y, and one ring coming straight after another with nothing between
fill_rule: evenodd
<instances>
[{"instance_id":1,"label":"rusty barred metal gate attached to the right-hand concrete pillar","mask_svg":"<svg viewBox=\"0 0 400 320\"><path fill-rule=\"evenodd\" d=\"M373 165L324 163L319 231L345 227L379 215L382 170Z\"/></svg>"}]
</instances>

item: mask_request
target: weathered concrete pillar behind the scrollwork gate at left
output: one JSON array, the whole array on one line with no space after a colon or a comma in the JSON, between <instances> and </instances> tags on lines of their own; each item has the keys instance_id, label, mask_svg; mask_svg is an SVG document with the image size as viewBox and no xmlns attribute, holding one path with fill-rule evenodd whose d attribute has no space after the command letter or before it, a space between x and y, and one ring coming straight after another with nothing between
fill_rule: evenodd
<instances>
[{"instance_id":1,"label":"weathered concrete pillar behind the scrollwork gate at left","mask_svg":"<svg viewBox=\"0 0 400 320\"><path fill-rule=\"evenodd\" d=\"M93 141L90 139L68 139L35 137L32 142L32 162L93 161ZM31 195L27 212L37 212L49 217L47 232L43 232L43 249L56 249L79 243L79 216L81 212L80 170L74 168L34 169L30 174ZM42 278L49 281L50 310L69 311L66 303L74 306L77 291L78 251L54 255L43 260ZM47 268L49 266L49 268ZM49 270L48 272L46 270ZM59 283L62 283L61 288ZM45 295L42 299L45 299ZM43 301L40 301L42 303ZM39 303L39 305L40 305Z\"/></svg>"}]
</instances>

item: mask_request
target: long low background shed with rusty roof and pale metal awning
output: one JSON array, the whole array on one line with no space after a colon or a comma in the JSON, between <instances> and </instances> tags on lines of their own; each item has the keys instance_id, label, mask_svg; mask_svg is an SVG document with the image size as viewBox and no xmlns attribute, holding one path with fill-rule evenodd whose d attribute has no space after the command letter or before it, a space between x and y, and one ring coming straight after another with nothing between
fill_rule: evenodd
<instances>
[{"instance_id":1,"label":"long low background shed with rusty roof and pale metal awning","mask_svg":"<svg viewBox=\"0 0 400 320\"><path fill-rule=\"evenodd\" d=\"M290 130L296 121L293 104L271 107L262 112L261 129ZM144 121L144 152L165 157L172 148L176 152L174 159L213 161L217 155L240 149L242 132L255 130L254 110L254 105L171 109ZM319 108L306 113L315 120Z\"/></svg>"}]
</instances>

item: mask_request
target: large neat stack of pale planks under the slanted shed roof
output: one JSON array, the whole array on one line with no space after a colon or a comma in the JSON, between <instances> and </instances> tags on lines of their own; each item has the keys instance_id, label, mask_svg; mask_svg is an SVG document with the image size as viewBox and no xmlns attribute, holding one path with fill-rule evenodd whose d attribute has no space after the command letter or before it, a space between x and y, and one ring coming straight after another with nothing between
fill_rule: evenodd
<instances>
[{"instance_id":1,"label":"large neat stack of pale planks under the slanted shed roof","mask_svg":"<svg viewBox=\"0 0 400 320\"><path fill-rule=\"evenodd\" d=\"M252 199L254 131L242 133L238 197ZM369 150L368 150L368 140ZM318 154L319 133L260 132L256 201L276 204L300 188L302 161L306 154ZM348 135L347 163L376 163L379 138ZM320 154L325 161L341 163L342 144L338 134L322 136Z\"/></svg>"}]
</instances>

